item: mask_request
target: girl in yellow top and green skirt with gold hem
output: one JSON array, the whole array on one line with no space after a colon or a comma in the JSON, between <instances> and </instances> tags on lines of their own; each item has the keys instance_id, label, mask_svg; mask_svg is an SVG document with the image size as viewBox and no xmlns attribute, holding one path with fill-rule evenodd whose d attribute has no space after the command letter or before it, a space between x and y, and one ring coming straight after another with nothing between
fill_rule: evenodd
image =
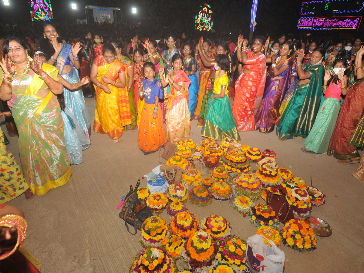
<instances>
[{"instance_id":1,"label":"girl in yellow top and green skirt with gold hem","mask_svg":"<svg viewBox=\"0 0 364 273\"><path fill-rule=\"evenodd\" d=\"M202 126L202 137L215 140L232 138L240 141L240 135L227 96L229 78L227 77L226 71L230 69L229 57L222 54L217 55L215 69L214 90L207 100L207 114Z\"/></svg>"}]
</instances>

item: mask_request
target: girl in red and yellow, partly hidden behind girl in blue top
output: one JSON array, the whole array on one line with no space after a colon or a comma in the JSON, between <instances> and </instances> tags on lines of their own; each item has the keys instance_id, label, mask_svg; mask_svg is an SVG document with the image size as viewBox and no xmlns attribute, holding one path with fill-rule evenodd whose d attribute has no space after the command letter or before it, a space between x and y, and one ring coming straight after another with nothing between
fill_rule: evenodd
<instances>
[{"instance_id":1,"label":"girl in red and yellow, partly hidden behind girl in blue top","mask_svg":"<svg viewBox=\"0 0 364 273\"><path fill-rule=\"evenodd\" d=\"M141 100L138 96L138 88L139 83L144 79L143 75L143 51L140 48L134 50L133 58L134 58L134 103L137 108L137 126L140 124L140 111L143 108L144 100Z\"/></svg>"}]
</instances>

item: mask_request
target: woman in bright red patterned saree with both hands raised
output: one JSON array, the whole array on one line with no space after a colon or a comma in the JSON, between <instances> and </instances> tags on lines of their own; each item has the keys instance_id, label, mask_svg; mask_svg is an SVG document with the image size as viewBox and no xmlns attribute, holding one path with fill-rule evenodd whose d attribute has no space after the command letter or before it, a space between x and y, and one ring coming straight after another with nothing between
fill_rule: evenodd
<instances>
[{"instance_id":1,"label":"woman in bright red patterned saree with both hands raised","mask_svg":"<svg viewBox=\"0 0 364 273\"><path fill-rule=\"evenodd\" d=\"M243 41L244 40L244 41ZM244 63L243 72L235 83L233 115L238 131L253 131L254 115L262 103L266 78L266 58L263 47L264 39L257 37L252 51L246 54L248 40L238 37L238 60Z\"/></svg>"}]
</instances>

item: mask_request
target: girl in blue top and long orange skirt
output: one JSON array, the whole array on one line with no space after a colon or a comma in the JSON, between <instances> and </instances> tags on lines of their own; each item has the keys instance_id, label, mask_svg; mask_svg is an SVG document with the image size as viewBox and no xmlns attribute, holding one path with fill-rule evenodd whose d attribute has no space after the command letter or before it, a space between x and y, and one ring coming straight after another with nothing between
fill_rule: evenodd
<instances>
[{"instance_id":1,"label":"girl in blue top and long orange skirt","mask_svg":"<svg viewBox=\"0 0 364 273\"><path fill-rule=\"evenodd\" d=\"M154 79L155 66L151 62L143 65L146 79L139 84L139 98L144 100L140 112L141 122L138 128L138 146L144 155L154 153L166 142L166 132L159 99L164 98L164 89L159 80ZM162 68L163 76L163 68Z\"/></svg>"}]
</instances>

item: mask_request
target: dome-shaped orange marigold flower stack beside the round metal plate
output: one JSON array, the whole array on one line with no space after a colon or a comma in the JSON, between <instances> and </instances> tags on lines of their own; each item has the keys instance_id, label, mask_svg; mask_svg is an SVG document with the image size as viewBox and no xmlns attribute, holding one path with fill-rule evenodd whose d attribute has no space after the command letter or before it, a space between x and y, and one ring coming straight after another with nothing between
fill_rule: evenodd
<instances>
[{"instance_id":1,"label":"dome-shaped orange marigold flower stack beside the round metal plate","mask_svg":"<svg viewBox=\"0 0 364 273\"><path fill-rule=\"evenodd\" d=\"M316 236L305 220L290 219L282 228L282 242L294 250L305 253L316 249Z\"/></svg>"}]
</instances>

